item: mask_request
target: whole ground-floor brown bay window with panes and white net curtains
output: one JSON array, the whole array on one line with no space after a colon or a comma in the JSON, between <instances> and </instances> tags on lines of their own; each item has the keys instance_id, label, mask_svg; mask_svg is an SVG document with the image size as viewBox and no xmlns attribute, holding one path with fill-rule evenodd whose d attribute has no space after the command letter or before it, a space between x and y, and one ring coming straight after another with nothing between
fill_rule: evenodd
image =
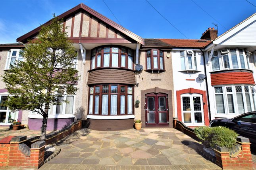
<instances>
[{"instance_id":1,"label":"whole ground-floor brown bay window with panes and white net curtains","mask_svg":"<svg viewBox=\"0 0 256 170\"><path fill-rule=\"evenodd\" d=\"M133 87L127 85L95 85L89 89L89 114L133 114Z\"/></svg>"}]
</instances>

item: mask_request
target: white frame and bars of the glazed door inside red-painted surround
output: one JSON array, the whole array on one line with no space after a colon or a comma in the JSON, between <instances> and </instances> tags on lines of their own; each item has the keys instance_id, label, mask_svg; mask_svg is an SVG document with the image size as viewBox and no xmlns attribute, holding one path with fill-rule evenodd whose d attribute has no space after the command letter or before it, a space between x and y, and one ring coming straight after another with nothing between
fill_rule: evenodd
<instances>
[{"instance_id":1,"label":"white frame and bars of the glazed door inside red-painted surround","mask_svg":"<svg viewBox=\"0 0 256 170\"><path fill-rule=\"evenodd\" d=\"M190 98L189 99L190 100L190 108L191 108L190 111L183 110L182 97L189 97ZM200 97L201 111L194 111L194 105L193 105L193 100L192 100L193 97ZM184 112L190 112L191 113L191 123L185 123L185 125L187 125L187 126L204 126L205 125L205 122L204 122L204 105L203 105L202 95L201 94L196 94L196 93L181 94L181 119L182 119L183 123L184 123L184 115L183 115ZM194 120L194 113L195 112L201 112L201 114L202 114L202 123L196 123L195 122L195 120Z\"/></svg>"}]
</instances>

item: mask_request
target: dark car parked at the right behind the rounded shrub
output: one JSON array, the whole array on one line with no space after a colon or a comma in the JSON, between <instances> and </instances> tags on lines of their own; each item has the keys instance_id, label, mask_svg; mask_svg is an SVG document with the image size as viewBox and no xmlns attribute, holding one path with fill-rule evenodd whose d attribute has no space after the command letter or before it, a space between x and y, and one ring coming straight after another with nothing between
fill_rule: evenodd
<instances>
[{"instance_id":1,"label":"dark car parked at the right behind the rounded shrub","mask_svg":"<svg viewBox=\"0 0 256 170\"><path fill-rule=\"evenodd\" d=\"M232 119L213 119L210 127L223 126L235 130L239 135L250 139L250 143L256 146L256 111L241 114Z\"/></svg>"}]
</instances>

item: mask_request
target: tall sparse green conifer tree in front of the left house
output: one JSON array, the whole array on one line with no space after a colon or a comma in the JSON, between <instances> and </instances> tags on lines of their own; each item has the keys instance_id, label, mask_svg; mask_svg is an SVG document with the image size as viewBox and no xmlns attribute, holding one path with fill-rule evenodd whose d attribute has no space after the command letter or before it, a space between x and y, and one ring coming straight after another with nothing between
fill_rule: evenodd
<instances>
[{"instance_id":1,"label":"tall sparse green conifer tree in front of the left house","mask_svg":"<svg viewBox=\"0 0 256 170\"><path fill-rule=\"evenodd\" d=\"M49 25L41 27L38 40L25 45L24 60L15 62L2 76L10 93L6 105L10 110L38 112L44 117L45 130L50 106L67 102L58 96L64 91L75 94L79 79L74 62L77 53L62 23L54 15Z\"/></svg>"}]
</instances>

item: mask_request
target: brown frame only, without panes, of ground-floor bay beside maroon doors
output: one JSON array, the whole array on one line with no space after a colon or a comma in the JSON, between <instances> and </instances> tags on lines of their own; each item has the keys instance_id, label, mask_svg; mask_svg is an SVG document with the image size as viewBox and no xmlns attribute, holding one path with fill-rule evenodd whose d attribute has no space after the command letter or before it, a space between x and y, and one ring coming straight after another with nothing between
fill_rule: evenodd
<instances>
[{"instance_id":1,"label":"brown frame only, without panes, of ground-floor bay beside maroon doors","mask_svg":"<svg viewBox=\"0 0 256 170\"><path fill-rule=\"evenodd\" d=\"M108 85L108 93L102 93L102 87ZM117 93L111 93L111 86L117 86ZM121 87L125 87L125 93L121 93ZM93 87L93 94L90 94L90 87ZM134 87L132 85L123 85L123 84L100 84L89 87L89 98L88 98L88 115L101 115L101 116L118 116L118 115L134 115ZM100 87L100 93L95 93L96 87ZM132 87L132 94L128 94L128 87ZM108 94L108 115L102 115L102 95ZM117 115L111 115L111 94L117 94ZM90 95L93 95L92 102L92 114L89 114L90 111ZM95 96L99 95L99 114L95 114ZM121 95L125 95L125 114L121 114ZM128 95L133 96L132 107L133 113L128 114Z\"/></svg>"}]
</instances>

